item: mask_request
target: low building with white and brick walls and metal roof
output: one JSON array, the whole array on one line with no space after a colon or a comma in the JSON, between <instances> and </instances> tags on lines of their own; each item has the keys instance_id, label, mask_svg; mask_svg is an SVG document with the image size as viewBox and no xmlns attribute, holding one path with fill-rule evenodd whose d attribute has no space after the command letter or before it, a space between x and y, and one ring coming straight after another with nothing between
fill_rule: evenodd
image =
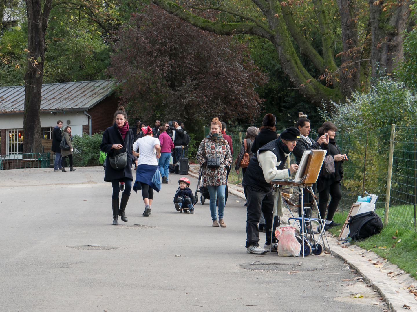
<instances>
[{"instance_id":1,"label":"low building with white and brick walls and metal roof","mask_svg":"<svg viewBox=\"0 0 417 312\"><path fill-rule=\"evenodd\" d=\"M113 80L43 84L40 126L45 146L58 120L79 136L111 126L119 102L113 94L114 87ZM24 86L0 87L0 155L23 153L24 109Z\"/></svg>"}]
</instances>

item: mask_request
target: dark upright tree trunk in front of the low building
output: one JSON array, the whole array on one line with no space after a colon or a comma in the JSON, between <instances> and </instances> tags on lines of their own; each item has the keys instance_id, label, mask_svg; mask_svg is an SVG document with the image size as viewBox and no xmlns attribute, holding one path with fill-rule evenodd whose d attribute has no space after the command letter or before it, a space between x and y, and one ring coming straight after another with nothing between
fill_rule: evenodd
<instances>
[{"instance_id":1,"label":"dark upright tree trunk in front of the low building","mask_svg":"<svg viewBox=\"0 0 417 312\"><path fill-rule=\"evenodd\" d=\"M23 117L23 149L25 153L40 152L40 98L45 61L45 31L52 0L26 0L28 16L28 61L25 80L25 113Z\"/></svg>"}]
</instances>

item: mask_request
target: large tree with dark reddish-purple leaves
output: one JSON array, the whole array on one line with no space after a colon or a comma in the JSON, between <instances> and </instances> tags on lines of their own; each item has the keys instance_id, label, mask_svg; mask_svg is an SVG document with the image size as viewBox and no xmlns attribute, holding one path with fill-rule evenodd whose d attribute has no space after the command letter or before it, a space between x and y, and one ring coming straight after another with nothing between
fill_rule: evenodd
<instances>
[{"instance_id":1,"label":"large tree with dark reddish-purple leaves","mask_svg":"<svg viewBox=\"0 0 417 312\"><path fill-rule=\"evenodd\" d=\"M131 114L149 122L178 118L191 128L214 116L240 122L259 116L255 89L267 77L232 36L200 30L150 5L117 37L109 72Z\"/></svg>"}]
</instances>

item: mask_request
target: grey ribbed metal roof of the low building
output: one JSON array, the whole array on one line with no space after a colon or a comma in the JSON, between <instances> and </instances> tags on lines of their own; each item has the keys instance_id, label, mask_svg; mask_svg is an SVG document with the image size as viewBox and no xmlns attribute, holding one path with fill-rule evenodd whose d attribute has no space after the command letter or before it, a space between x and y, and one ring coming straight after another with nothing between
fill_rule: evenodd
<instances>
[{"instance_id":1,"label":"grey ribbed metal roof of the low building","mask_svg":"<svg viewBox=\"0 0 417 312\"><path fill-rule=\"evenodd\" d=\"M41 111L82 111L90 109L113 93L114 80L43 84ZM25 110L25 86L0 87L0 113Z\"/></svg>"}]
</instances>

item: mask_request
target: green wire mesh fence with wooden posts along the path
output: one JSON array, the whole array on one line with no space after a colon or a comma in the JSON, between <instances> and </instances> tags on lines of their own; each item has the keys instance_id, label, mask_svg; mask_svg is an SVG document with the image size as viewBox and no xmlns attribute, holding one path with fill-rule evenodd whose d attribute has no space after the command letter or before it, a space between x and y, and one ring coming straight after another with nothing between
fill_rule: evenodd
<instances>
[{"instance_id":1,"label":"green wire mesh fence with wooden posts along the path","mask_svg":"<svg viewBox=\"0 0 417 312\"><path fill-rule=\"evenodd\" d=\"M358 195L374 193L378 195L375 211L384 223L417 230L416 127L392 125L364 132L337 132L337 146L349 159L343 163L342 200L339 203L342 211L349 210ZM282 130L277 130L277 133ZM204 128L204 132L208 135L208 127ZM245 132L226 134L232 137L231 175L236 175L233 173L234 161L239 155ZM316 136L310 132L312 139ZM292 156L291 163L294 162Z\"/></svg>"}]
</instances>

